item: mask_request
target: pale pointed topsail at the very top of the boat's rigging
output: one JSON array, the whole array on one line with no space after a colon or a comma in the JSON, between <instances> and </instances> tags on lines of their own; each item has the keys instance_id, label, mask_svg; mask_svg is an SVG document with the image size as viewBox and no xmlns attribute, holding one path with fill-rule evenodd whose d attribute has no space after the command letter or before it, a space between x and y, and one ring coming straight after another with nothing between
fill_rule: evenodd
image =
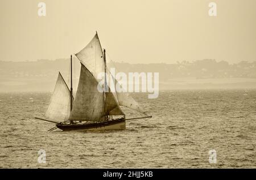
<instances>
[{"instance_id":1,"label":"pale pointed topsail at the very top of the boat's rigging","mask_svg":"<svg viewBox=\"0 0 256 180\"><path fill-rule=\"evenodd\" d=\"M89 42L89 44L76 54L76 57L93 74L96 79L99 73L105 72L104 56L97 33ZM99 81L99 79L97 80Z\"/></svg>"}]
</instances>

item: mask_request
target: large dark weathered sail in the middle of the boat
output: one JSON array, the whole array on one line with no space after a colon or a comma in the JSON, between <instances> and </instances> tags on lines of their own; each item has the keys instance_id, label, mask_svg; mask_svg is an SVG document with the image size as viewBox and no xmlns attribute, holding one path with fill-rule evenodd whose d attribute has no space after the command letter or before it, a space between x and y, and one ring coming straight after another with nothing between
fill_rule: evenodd
<instances>
[{"instance_id":1,"label":"large dark weathered sail in the middle of the boat","mask_svg":"<svg viewBox=\"0 0 256 180\"><path fill-rule=\"evenodd\" d=\"M104 115L104 93L98 91L98 82L81 64L79 85L69 121L101 121Z\"/></svg>"}]
</instances>

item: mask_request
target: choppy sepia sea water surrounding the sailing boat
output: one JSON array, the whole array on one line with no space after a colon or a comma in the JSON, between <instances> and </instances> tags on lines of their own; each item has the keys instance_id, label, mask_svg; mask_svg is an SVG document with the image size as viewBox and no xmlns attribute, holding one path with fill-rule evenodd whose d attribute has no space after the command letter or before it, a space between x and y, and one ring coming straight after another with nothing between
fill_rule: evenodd
<instances>
[{"instance_id":1,"label":"choppy sepia sea water surrounding the sailing boat","mask_svg":"<svg viewBox=\"0 0 256 180\"><path fill-rule=\"evenodd\" d=\"M51 123L31 119L44 114L50 96L0 94L0 168L256 168L256 90L135 94L153 118L86 133L47 132ZM39 149L46 164L38 163Z\"/></svg>"}]
</instances>

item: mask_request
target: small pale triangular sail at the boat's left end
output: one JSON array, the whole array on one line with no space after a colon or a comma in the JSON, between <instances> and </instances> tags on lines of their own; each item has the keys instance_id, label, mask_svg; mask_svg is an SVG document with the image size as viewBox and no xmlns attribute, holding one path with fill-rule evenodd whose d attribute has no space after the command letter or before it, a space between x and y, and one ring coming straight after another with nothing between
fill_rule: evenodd
<instances>
[{"instance_id":1,"label":"small pale triangular sail at the boat's left end","mask_svg":"<svg viewBox=\"0 0 256 180\"><path fill-rule=\"evenodd\" d=\"M64 122L70 113L71 94L67 84L59 72L51 102L44 117L55 122Z\"/></svg>"}]
</instances>

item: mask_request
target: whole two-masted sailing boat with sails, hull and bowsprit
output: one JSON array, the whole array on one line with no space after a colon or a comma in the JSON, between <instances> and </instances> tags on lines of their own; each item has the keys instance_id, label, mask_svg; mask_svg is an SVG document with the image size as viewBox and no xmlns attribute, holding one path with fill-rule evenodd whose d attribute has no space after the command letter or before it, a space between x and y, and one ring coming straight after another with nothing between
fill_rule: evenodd
<instances>
[{"instance_id":1,"label":"whole two-masted sailing boat with sails, hull and bowsprit","mask_svg":"<svg viewBox=\"0 0 256 180\"><path fill-rule=\"evenodd\" d=\"M125 130L126 121L131 119L151 118L128 93L110 89L107 83L106 50L102 50L98 34L88 45L75 54L81 63L79 84L74 98L72 88L72 55L71 55L71 88L69 89L59 72L51 102L44 118L36 118L56 124L48 131L60 128L70 130ZM98 91L101 81L98 74L105 72L104 89ZM110 74L110 77L114 77ZM118 83L114 79L115 83ZM144 117L126 119L120 106L137 110Z\"/></svg>"}]
</instances>

